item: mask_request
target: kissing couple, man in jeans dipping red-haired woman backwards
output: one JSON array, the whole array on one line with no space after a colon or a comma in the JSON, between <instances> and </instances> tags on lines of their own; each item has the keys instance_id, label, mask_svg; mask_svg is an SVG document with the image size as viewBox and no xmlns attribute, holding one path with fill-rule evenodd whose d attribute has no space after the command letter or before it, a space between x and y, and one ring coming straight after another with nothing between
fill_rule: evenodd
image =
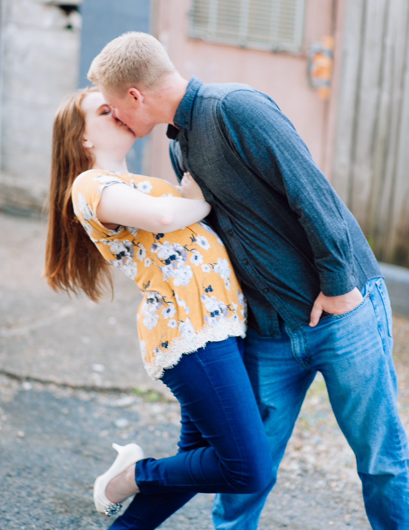
<instances>
[{"instance_id":1,"label":"kissing couple, man in jeans dipping red-haired woman backwards","mask_svg":"<svg viewBox=\"0 0 409 530\"><path fill-rule=\"evenodd\" d=\"M46 276L93 300L110 266L137 283L143 363L182 418L174 456L113 444L96 508L134 498L111 530L157 528L198 492L216 493L216 529L255 530L317 371L372 528L408 528L385 282L292 123L248 85L185 80L146 33L108 43L88 78L54 119ZM126 167L158 123L179 187Z\"/></svg>"}]
</instances>

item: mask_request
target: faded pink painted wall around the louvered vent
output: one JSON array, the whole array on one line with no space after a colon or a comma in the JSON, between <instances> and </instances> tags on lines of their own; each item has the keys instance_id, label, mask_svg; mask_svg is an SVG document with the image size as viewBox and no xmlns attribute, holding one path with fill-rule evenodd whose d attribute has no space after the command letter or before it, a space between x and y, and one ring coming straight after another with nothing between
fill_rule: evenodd
<instances>
[{"instance_id":1,"label":"faded pink painted wall around the louvered vent","mask_svg":"<svg viewBox=\"0 0 409 530\"><path fill-rule=\"evenodd\" d=\"M213 45L186 37L190 0L157 0L155 33L180 74L196 75L205 83L246 83L271 96L294 123L315 162L330 167L335 104L323 101L308 86L306 57ZM306 0L304 49L339 24L336 0ZM335 21L335 24L334 24ZM334 106L335 105L335 106ZM331 125L333 127L333 123ZM166 125L152 131L150 174L175 181L168 155Z\"/></svg>"}]
</instances>

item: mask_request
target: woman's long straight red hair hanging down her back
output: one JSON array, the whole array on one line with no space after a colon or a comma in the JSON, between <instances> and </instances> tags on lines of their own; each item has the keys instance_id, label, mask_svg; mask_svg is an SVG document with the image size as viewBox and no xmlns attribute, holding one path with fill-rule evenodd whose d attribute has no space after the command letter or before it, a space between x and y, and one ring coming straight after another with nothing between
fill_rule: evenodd
<instances>
[{"instance_id":1,"label":"woman's long straight red hair hanging down her back","mask_svg":"<svg viewBox=\"0 0 409 530\"><path fill-rule=\"evenodd\" d=\"M54 118L48 235L44 275L54 291L79 291L95 302L111 287L110 266L78 222L71 200L75 178L94 160L83 146L85 117L81 102L96 87L79 90L63 101Z\"/></svg>"}]
</instances>

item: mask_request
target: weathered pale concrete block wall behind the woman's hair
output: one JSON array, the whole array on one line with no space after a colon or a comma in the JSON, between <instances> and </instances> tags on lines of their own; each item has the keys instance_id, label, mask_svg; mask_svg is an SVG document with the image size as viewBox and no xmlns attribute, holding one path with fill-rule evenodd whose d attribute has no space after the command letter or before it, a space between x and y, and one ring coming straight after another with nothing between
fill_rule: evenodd
<instances>
[{"instance_id":1,"label":"weathered pale concrete block wall behind the woman's hair","mask_svg":"<svg viewBox=\"0 0 409 530\"><path fill-rule=\"evenodd\" d=\"M77 86L81 17L45 0L0 2L0 208L40 211L49 182L54 112Z\"/></svg>"}]
</instances>

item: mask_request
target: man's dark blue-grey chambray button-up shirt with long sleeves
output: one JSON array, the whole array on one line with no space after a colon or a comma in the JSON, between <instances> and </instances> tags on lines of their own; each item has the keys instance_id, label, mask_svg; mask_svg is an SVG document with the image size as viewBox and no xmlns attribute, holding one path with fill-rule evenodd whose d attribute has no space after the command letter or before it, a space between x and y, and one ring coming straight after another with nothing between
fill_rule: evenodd
<instances>
[{"instance_id":1,"label":"man's dark blue-grey chambray button-up shirt with long sleeves","mask_svg":"<svg viewBox=\"0 0 409 530\"><path fill-rule=\"evenodd\" d=\"M279 337L310 321L326 296L381 273L348 208L272 99L248 85L192 77L168 128L179 178L189 171L212 205L249 304L249 325Z\"/></svg>"}]
</instances>

